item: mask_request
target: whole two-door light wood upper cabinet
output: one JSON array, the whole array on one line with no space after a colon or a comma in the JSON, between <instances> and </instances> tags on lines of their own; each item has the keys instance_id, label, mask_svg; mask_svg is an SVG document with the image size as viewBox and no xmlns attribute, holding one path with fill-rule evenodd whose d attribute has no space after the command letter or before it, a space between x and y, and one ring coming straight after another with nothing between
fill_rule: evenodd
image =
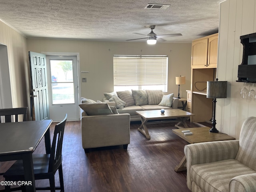
<instances>
[{"instance_id":1,"label":"whole two-door light wood upper cabinet","mask_svg":"<svg viewBox=\"0 0 256 192\"><path fill-rule=\"evenodd\" d=\"M192 41L191 68L216 68L218 33Z\"/></svg>"}]
</instances>

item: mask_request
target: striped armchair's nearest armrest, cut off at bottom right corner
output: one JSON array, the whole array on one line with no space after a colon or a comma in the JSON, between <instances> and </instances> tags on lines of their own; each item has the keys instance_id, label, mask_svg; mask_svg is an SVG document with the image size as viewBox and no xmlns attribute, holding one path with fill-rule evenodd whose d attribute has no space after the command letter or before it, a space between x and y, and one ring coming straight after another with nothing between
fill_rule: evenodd
<instances>
[{"instance_id":1,"label":"striped armchair's nearest armrest, cut off at bottom right corner","mask_svg":"<svg viewBox=\"0 0 256 192\"><path fill-rule=\"evenodd\" d=\"M240 175L232 178L229 183L230 192L256 191L256 173Z\"/></svg>"}]
</instances>

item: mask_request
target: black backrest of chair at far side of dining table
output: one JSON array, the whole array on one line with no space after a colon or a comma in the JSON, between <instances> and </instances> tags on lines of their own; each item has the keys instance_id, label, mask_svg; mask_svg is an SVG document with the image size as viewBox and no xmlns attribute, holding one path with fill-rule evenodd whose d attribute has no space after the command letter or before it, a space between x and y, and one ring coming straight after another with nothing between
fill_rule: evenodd
<instances>
[{"instance_id":1,"label":"black backrest of chair at far side of dining table","mask_svg":"<svg viewBox=\"0 0 256 192\"><path fill-rule=\"evenodd\" d=\"M1 116L4 116L5 122L12 122L12 116L14 118L14 122L18 122L18 115L23 115L23 121L27 119L28 107L21 108L10 108L10 109L0 109L0 123Z\"/></svg>"}]
</instances>

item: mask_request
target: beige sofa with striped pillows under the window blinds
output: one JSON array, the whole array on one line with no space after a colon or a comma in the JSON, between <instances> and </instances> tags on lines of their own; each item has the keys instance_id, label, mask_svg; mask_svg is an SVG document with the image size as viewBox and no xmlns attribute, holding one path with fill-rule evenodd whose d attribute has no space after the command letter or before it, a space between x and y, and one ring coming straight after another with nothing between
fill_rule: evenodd
<instances>
[{"instance_id":1,"label":"beige sofa with striped pillows under the window blinds","mask_svg":"<svg viewBox=\"0 0 256 192\"><path fill-rule=\"evenodd\" d=\"M130 121L140 121L136 111L177 109L179 100L162 90L126 90L104 93L103 102L111 102L109 105L116 106L119 114L130 114Z\"/></svg>"}]
</instances>

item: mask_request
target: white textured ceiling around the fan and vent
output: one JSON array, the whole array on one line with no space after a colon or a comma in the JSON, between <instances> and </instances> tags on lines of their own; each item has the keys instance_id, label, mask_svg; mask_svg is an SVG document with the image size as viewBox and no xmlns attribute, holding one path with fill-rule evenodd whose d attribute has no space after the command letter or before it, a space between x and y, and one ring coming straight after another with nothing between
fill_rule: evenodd
<instances>
[{"instance_id":1,"label":"white textured ceiling around the fan and vent","mask_svg":"<svg viewBox=\"0 0 256 192\"><path fill-rule=\"evenodd\" d=\"M170 4L166 10L144 9ZM191 42L218 32L217 0L0 0L0 19L27 38L125 41L181 33L166 42ZM160 40L160 39L158 39ZM134 42L146 41L134 40Z\"/></svg>"}]
</instances>

